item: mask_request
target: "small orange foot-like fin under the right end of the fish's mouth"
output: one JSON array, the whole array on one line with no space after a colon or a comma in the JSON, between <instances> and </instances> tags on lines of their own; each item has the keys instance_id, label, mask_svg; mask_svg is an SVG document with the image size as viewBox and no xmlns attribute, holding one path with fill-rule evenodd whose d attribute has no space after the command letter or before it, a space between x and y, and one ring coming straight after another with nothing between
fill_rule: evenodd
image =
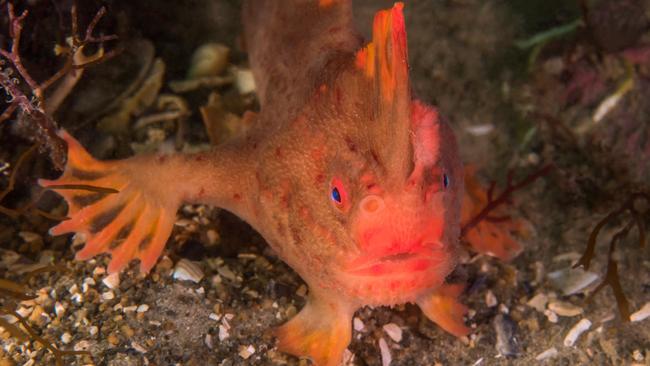
<instances>
[{"instance_id":1,"label":"small orange foot-like fin under the right end of the fish's mouth","mask_svg":"<svg viewBox=\"0 0 650 366\"><path fill-rule=\"evenodd\" d=\"M464 288L462 284L442 285L417 301L427 318L456 337L466 336L470 331L463 320L467 307L458 301Z\"/></svg>"}]
</instances>

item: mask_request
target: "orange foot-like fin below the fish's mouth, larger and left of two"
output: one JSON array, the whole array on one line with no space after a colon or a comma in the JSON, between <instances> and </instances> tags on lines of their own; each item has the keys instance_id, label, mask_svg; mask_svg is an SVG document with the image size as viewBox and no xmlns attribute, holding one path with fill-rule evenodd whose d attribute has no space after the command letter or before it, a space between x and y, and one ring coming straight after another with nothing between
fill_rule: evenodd
<instances>
[{"instance_id":1,"label":"orange foot-like fin below the fish's mouth, larger and left of two","mask_svg":"<svg viewBox=\"0 0 650 366\"><path fill-rule=\"evenodd\" d=\"M338 366L352 336L353 310L335 301L310 295L300 313L276 330L278 349L317 366Z\"/></svg>"}]
</instances>

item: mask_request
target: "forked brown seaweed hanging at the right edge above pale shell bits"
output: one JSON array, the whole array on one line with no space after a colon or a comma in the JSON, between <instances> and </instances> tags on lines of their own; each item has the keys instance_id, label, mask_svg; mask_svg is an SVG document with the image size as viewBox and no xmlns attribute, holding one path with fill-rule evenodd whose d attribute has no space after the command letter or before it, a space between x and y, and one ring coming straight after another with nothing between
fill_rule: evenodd
<instances>
[{"instance_id":1,"label":"forked brown seaweed hanging at the right edge above pale shell bits","mask_svg":"<svg viewBox=\"0 0 650 366\"><path fill-rule=\"evenodd\" d=\"M625 293L623 292L623 287L621 286L621 280L618 275L618 263L614 258L614 253L616 251L616 245L625 239L635 226L639 231L639 248L642 249L645 247L646 233L644 215L649 212L649 207L650 194L645 192L631 194L618 209L610 212L607 216L602 218L596 226L594 226L589 235L589 240L587 241L587 248L585 248L580 260L578 260L578 262L573 266L574 268L583 267L585 270L589 269L591 261L595 256L596 243L600 231L605 227L605 225L615 219L621 218L622 216L629 216L627 223L614 234L612 240L609 242L605 278L598 284L587 299L587 301L591 301L605 286L611 287L614 292L614 298L616 299L619 314L626 322L630 321L630 305Z\"/></svg>"}]
</instances>

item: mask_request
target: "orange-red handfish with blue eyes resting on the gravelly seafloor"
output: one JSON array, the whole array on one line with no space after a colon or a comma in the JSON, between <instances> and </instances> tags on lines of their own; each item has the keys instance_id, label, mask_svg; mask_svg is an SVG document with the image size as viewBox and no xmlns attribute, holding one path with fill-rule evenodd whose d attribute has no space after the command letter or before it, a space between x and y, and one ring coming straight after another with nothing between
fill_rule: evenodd
<instances>
[{"instance_id":1,"label":"orange-red handfish with blue eyes resting on the gravelly seafloor","mask_svg":"<svg viewBox=\"0 0 650 366\"><path fill-rule=\"evenodd\" d=\"M415 98L404 4L380 10L372 40L350 0L246 1L244 39L260 103L242 134L192 154L101 161L65 131L63 196L52 235L86 237L76 258L109 253L148 273L186 203L249 223L305 281L306 305L278 349L338 365L363 306L415 303L455 336L469 333L458 263L463 165L452 128Z\"/></svg>"}]
</instances>

